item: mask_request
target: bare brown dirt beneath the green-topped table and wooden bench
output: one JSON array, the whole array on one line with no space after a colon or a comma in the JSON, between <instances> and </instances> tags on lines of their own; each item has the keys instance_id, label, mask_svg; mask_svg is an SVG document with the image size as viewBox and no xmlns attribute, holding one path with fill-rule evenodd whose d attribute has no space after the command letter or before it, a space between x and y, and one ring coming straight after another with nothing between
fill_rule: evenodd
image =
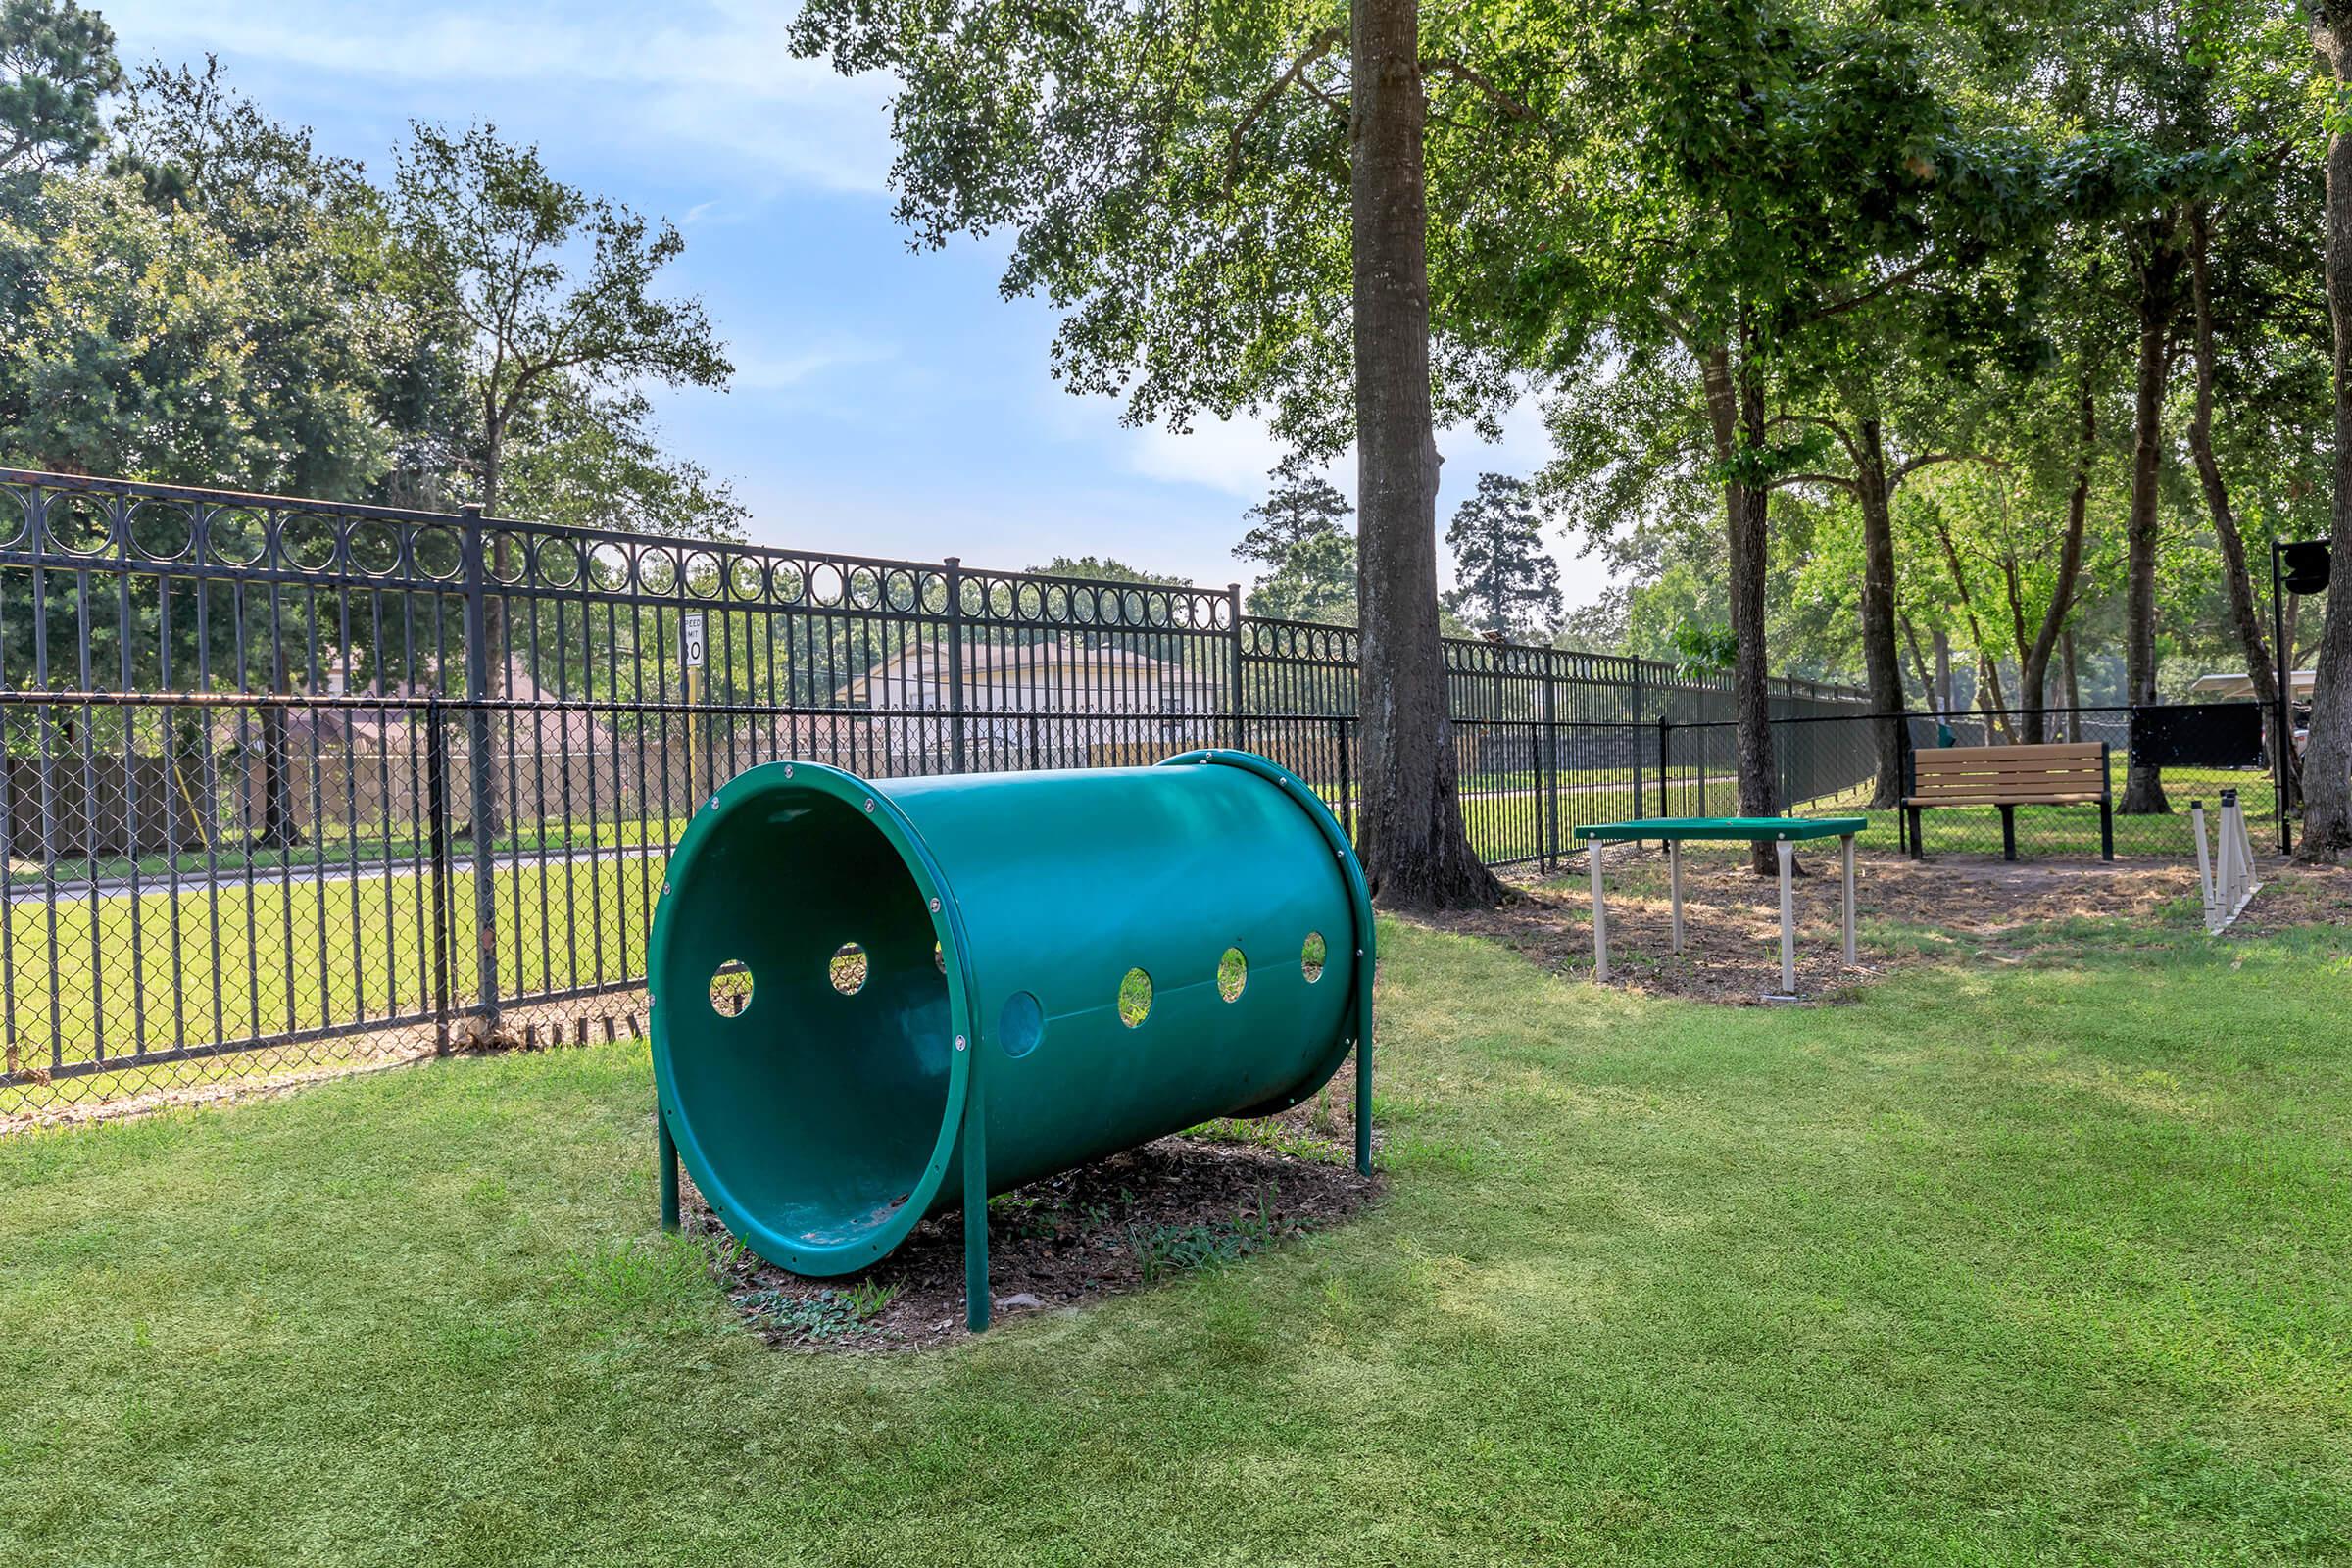
<instances>
[{"instance_id":1,"label":"bare brown dirt beneath the green-topped table and wooden bench","mask_svg":"<svg viewBox=\"0 0 2352 1568\"><path fill-rule=\"evenodd\" d=\"M1999 860L1992 856L1856 858L1858 964L1839 936L1837 856L1804 858L1797 879L1797 992L1816 1001L1915 964L2016 961L2060 938L2070 922L2140 922L2173 929L2197 919L2197 870L2180 863ZM2265 889L2232 926L2279 931L2352 919L2352 872L2263 863ZM1689 856L1682 867L1682 957L1672 950L1665 856L1611 851L1609 983L1646 994L1757 1004L1780 987L1780 884L1729 856ZM1555 973L1592 978L1592 893L1581 877L1519 882L1510 903L1435 917Z\"/></svg>"}]
</instances>

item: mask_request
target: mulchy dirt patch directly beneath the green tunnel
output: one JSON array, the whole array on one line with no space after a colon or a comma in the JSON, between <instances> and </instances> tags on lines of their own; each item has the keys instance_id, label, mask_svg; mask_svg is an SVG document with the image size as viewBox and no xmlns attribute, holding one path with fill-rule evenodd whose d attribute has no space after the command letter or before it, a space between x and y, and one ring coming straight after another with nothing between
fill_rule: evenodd
<instances>
[{"instance_id":1,"label":"mulchy dirt patch directly beneath the green tunnel","mask_svg":"<svg viewBox=\"0 0 2352 1568\"><path fill-rule=\"evenodd\" d=\"M1343 1128L1312 1121L1308 1103L1265 1121L1214 1124L990 1199L995 1319L1225 1267L1378 1201L1383 1180L1357 1175L1348 1145L1334 1143ZM863 1354L969 1338L962 1213L927 1218L863 1274L802 1279L743 1251L694 1185L680 1187L684 1232L710 1244L727 1295L771 1345Z\"/></svg>"}]
</instances>

